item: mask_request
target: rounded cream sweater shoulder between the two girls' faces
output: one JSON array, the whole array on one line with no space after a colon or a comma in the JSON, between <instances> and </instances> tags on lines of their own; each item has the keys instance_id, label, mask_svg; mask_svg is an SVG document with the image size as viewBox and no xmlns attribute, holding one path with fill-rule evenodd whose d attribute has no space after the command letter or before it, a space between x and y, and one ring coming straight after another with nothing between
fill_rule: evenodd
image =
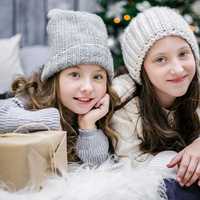
<instances>
[{"instance_id":1,"label":"rounded cream sweater shoulder between the two girls' faces","mask_svg":"<svg viewBox=\"0 0 200 200\"><path fill-rule=\"evenodd\" d=\"M128 74L123 74L113 79L112 89L123 103L135 92L136 85Z\"/></svg>"}]
</instances>

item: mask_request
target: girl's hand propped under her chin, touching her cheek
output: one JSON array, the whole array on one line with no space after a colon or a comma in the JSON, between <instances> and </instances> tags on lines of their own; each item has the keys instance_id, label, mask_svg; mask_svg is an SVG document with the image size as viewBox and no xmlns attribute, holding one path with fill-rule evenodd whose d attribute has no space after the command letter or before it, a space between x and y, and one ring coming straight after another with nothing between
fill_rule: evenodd
<instances>
[{"instance_id":1,"label":"girl's hand propped under her chin, touching her cheek","mask_svg":"<svg viewBox=\"0 0 200 200\"><path fill-rule=\"evenodd\" d=\"M81 129L94 129L96 122L104 117L109 111L110 96L105 96L97 102L95 107L84 115L78 116L78 124Z\"/></svg>"}]
</instances>

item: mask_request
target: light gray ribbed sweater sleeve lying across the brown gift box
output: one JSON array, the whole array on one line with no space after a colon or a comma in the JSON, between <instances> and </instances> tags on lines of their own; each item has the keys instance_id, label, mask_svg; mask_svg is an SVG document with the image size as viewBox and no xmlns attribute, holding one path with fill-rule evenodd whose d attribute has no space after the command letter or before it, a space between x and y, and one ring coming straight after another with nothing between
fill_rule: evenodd
<instances>
[{"instance_id":1,"label":"light gray ribbed sweater sleeve lying across the brown gift box","mask_svg":"<svg viewBox=\"0 0 200 200\"><path fill-rule=\"evenodd\" d=\"M13 132L20 126L33 123L44 124L52 130L61 127L60 115L56 108L30 111L17 98L0 100L0 133Z\"/></svg>"}]
</instances>

